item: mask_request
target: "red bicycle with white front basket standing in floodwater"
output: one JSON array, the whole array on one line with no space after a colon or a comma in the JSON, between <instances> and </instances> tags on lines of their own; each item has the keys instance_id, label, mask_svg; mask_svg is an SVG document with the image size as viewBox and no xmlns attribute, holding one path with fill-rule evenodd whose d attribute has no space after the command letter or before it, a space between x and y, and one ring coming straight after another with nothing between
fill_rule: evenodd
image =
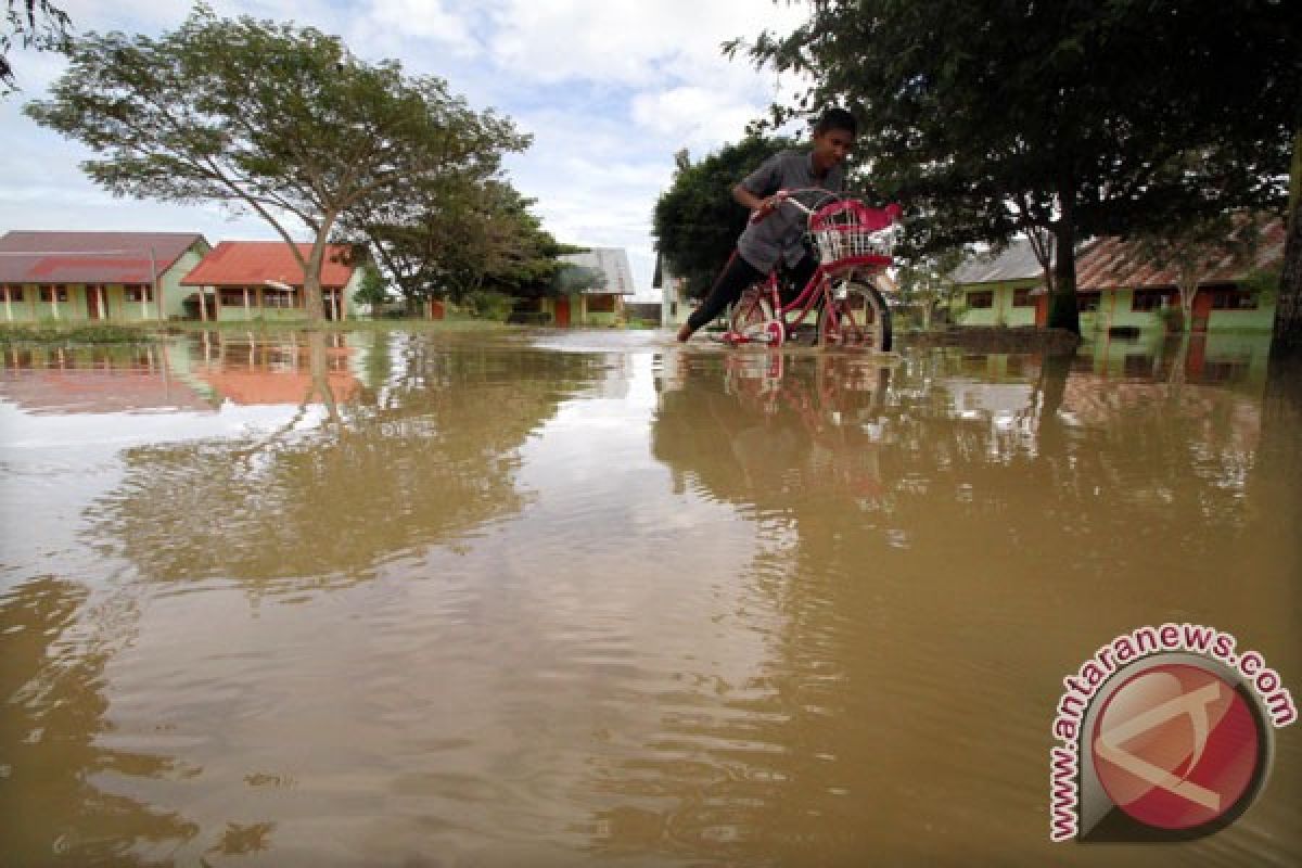
<instances>
[{"instance_id":1,"label":"red bicycle with white front basket standing in floodwater","mask_svg":"<svg viewBox=\"0 0 1302 868\"><path fill-rule=\"evenodd\" d=\"M814 207L796 195L816 193ZM865 346L880 353L891 350L891 308L881 292L871 284L874 275L891 264L891 251L898 233L900 206L870 208L853 197L807 187L780 190L779 206L794 206L809 217L809 236L818 247L819 264L801 293L784 305L777 272L745 290L728 316L721 340L737 346L764 344L781 346L818 310L819 346ZM831 203L824 204L828 199ZM753 220L763 220L759 213ZM796 320L789 314L799 311Z\"/></svg>"}]
</instances>

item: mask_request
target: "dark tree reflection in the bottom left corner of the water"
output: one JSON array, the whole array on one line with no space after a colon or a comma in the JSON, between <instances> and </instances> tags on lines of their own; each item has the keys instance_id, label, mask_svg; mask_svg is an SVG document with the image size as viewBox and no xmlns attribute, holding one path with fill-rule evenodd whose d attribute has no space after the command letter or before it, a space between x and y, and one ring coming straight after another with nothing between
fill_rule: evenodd
<instances>
[{"instance_id":1,"label":"dark tree reflection in the bottom left corner of the water","mask_svg":"<svg viewBox=\"0 0 1302 868\"><path fill-rule=\"evenodd\" d=\"M112 648L85 635L85 622L94 634L96 619L122 614L87 610L86 590L55 576L0 597L0 863L154 864L139 850L176 848L198 834L197 824L174 812L96 786L115 773L185 773L165 756L102 744L112 731L104 690ZM111 635L129 639L116 626Z\"/></svg>"}]
</instances>

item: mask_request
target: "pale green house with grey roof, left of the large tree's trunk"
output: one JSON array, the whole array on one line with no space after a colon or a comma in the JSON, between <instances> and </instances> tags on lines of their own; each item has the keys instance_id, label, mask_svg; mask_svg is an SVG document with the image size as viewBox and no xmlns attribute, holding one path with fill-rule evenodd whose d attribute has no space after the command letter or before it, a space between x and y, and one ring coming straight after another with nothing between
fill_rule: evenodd
<instances>
[{"instance_id":1,"label":"pale green house with grey roof, left of the large tree's trunk","mask_svg":"<svg viewBox=\"0 0 1302 868\"><path fill-rule=\"evenodd\" d=\"M1031 242L1014 239L996 254L976 254L954 269L960 299L952 316L958 325L1035 325L1038 299L1044 298L1044 269ZM1047 310L1047 308L1046 308Z\"/></svg>"}]
</instances>

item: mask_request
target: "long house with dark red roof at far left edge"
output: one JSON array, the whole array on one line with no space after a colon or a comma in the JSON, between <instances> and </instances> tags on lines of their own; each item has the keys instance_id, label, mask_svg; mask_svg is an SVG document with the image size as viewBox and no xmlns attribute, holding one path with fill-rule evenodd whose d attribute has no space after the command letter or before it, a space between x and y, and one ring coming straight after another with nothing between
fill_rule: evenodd
<instances>
[{"instance_id":1,"label":"long house with dark red roof at far left edge","mask_svg":"<svg viewBox=\"0 0 1302 868\"><path fill-rule=\"evenodd\" d=\"M9 232L0 237L0 316L177 319L185 315L181 278L206 252L208 242L193 232Z\"/></svg>"}]
</instances>

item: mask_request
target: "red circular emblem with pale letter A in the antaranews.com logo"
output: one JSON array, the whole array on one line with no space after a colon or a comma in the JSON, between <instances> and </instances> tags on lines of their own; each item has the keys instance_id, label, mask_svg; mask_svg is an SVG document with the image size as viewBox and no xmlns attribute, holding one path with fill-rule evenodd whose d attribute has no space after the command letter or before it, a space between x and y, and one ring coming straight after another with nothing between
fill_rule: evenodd
<instances>
[{"instance_id":1,"label":"red circular emblem with pale letter A in the antaranews.com logo","mask_svg":"<svg viewBox=\"0 0 1302 868\"><path fill-rule=\"evenodd\" d=\"M1159 829L1193 829L1238 806L1262 744L1247 701L1219 675L1163 664L1108 696L1091 740L1113 804Z\"/></svg>"}]
</instances>

